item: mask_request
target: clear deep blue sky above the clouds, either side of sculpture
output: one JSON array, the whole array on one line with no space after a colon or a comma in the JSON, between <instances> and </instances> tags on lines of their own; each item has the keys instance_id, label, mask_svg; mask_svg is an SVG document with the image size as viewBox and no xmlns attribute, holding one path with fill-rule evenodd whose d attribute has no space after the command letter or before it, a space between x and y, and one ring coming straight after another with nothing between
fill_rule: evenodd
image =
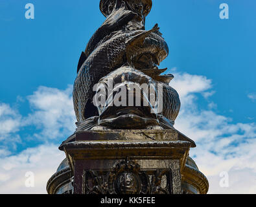
<instances>
[{"instance_id":1,"label":"clear deep blue sky above the clouds, either side of sculpture","mask_svg":"<svg viewBox=\"0 0 256 207\"><path fill-rule=\"evenodd\" d=\"M27 1L1 1L1 102L14 103L39 85L73 84L80 52L104 21L98 1L30 2L33 20L24 16ZM220 3L229 4L228 20L218 16ZM160 0L146 20L147 28L159 23L169 43L162 66L215 80L218 110L237 122L255 113L248 99L255 93L255 4Z\"/></svg>"}]
</instances>

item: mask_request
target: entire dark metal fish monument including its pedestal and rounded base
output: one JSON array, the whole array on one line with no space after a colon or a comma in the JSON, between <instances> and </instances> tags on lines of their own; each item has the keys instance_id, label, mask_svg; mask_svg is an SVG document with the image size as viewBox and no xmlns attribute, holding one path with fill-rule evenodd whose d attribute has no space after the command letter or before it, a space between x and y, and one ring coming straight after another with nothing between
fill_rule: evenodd
<instances>
[{"instance_id":1,"label":"entire dark metal fish monument including its pedestal and rounded base","mask_svg":"<svg viewBox=\"0 0 256 207\"><path fill-rule=\"evenodd\" d=\"M181 103L174 76L158 68L169 47L157 24L145 30L151 8L152 0L100 1L106 20L80 56L73 88L77 129L59 147L67 158L48 193L207 193L189 157L196 144L174 128Z\"/></svg>"}]
</instances>

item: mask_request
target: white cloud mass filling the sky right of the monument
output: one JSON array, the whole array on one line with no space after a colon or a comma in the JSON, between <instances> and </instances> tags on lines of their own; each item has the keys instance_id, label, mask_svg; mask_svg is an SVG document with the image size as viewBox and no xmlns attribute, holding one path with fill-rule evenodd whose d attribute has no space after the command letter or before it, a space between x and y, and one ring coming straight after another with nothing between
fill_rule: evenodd
<instances>
[{"instance_id":1,"label":"white cloud mass filling the sky right of the monument","mask_svg":"<svg viewBox=\"0 0 256 207\"><path fill-rule=\"evenodd\" d=\"M182 107L175 127L196 142L191 156L209 179L209 193L256 193L255 123L233 124L231 118L215 113L213 102L211 110L201 109L195 93L205 94L211 89L207 78L178 74L177 79L172 86L182 91ZM220 188L222 171L229 173L229 188Z\"/></svg>"}]
</instances>

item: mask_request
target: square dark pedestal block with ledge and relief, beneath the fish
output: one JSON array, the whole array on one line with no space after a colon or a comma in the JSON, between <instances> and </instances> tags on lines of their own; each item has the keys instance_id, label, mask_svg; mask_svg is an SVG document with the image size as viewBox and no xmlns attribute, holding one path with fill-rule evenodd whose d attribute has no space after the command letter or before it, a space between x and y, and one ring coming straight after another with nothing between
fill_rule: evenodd
<instances>
[{"instance_id":1,"label":"square dark pedestal block with ledge and relief, beneath the fish","mask_svg":"<svg viewBox=\"0 0 256 207\"><path fill-rule=\"evenodd\" d=\"M64 150L74 193L180 194L194 142L176 130L80 131Z\"/></svg>"}]
</instances>

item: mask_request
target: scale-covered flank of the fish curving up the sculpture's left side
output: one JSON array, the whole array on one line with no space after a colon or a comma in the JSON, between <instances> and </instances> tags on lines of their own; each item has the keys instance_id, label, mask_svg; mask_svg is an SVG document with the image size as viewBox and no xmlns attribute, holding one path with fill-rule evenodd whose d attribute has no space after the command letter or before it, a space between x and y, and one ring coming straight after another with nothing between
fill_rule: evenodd
<instances>
[{"instance_id":1,"label":"scale-covered flank of the fish curving up the sculpture's left side","mask_svg":"<svg viewBox=\"0 0 256 207\"><path fill-rule=\"evenodd\" d=\"M119 32L89 55L78 72L73 89L73 102L78 122L86 119L84 110L88 100L90 102L93 100L93 85L124 64L126 41L146 32L148 31Z\"/></svg>"}]
</instances>

